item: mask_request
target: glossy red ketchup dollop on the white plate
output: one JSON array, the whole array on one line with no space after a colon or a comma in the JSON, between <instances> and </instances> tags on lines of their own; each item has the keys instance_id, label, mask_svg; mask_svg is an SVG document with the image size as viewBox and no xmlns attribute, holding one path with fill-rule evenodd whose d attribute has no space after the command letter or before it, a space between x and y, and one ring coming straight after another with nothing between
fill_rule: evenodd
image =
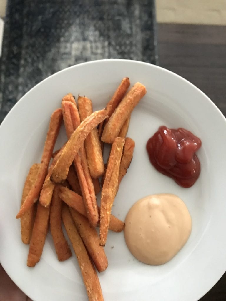
<instances>
[{"instance_id":1,"label":"glossy red ketchup dollop on the white plate","mask_svg":"<svg viewBox=\"0 0 226 301\"><path fill-rule=\"evenodd\" d=\"M160 126L148 140L146 148L152 165L159 172L187 188L200 174L200 162L195 153L201 144L201 140L186 129Z\"/></svg>"}]
</instances>

